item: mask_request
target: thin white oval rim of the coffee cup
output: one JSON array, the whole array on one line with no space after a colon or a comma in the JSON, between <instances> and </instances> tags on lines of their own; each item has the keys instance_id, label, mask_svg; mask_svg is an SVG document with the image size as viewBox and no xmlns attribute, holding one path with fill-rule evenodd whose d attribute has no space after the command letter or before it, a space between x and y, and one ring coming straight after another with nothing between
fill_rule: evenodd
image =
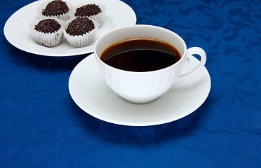
<instances>
[{"instance_id":1,"label":"thin white oval rim of the coffee cup","mask_svg":"<svg viewBox=\"0 0 261 168\"><path fill-rule=\"evenodd\" d=\"M113 34L115 31L119 31L121 29L126 29L126 28L131 28L131 27L154 27L156 29L163 29L164 31L169 31L172 34L175 34L175 36L178 36L178 38L180 38L180 40L182 41L183 47L184 47L184 53L183 55L181 55L180 60L178 60L178 62L175 62L175 64L172 64L170 66L167 66L163 69L157 69L154 71L127 71L127 70L123 70L123 69L117 69L114 66L110 66L109 64L106 64L105 62L103 62L100 57L98 56L97 52L96 52L96 48L98 46L98 43L100 43L100 41L102 41L102 38L104 36L107 36L108 34ZM137 37L138 38L138 37ZM123 39L125 40L125 39ZM159 39L160 41L163 41L161 39ZM178 49L177 49L178 50ZM164 71L164 70L168 70L173 68L173 66L177 66L179 62L182 62L183 59L185 59L185 55L187 55L187 45L185 43L185 41L183 40L183 38L181 38L178 34L176 34L174 31L170 31L169 29L163 28L163 27L158 27L158 26L154 26L154 25L128 25L128 26L124 26L124 27L118 27L116 29L112 29L111 31L108 31L107 33L103 34L100 38L98 38L98 40L96 41L96 43L94 44L94 55L95 58L98 60L98 62L100 62L101 64L109 67L110 69L114 69L116 71L124 71L126 73L154 73L155 71Z\"/></svg>"}]
</instances>

